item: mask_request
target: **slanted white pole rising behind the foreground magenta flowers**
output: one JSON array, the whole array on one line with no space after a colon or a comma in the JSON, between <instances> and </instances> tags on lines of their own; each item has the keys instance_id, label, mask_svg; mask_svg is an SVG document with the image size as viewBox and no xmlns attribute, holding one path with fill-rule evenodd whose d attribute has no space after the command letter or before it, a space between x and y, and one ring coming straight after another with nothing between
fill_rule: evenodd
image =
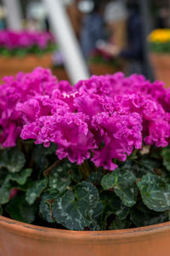
<instances>
[{"instance_id":1,"label":"slanted white pole rising behind the foreground magenta flowers","mask_svg":"<svg viewBox=\"0 0 170 256\"><path fill-rule=\"evenodd\" d=\"M88 79L88 67L83 60L82 51L73 32L62 0L43 0L48 9L49 19L62 54L65 68L73 84Z\"/></svg>"}]
</instances>

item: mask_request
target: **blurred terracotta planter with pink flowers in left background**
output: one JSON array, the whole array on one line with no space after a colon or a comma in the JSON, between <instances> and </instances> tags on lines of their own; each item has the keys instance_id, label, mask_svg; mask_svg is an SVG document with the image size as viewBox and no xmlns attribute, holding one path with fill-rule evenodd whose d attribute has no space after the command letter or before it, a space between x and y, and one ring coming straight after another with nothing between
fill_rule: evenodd
<instances>
[{"instance_id":1,"label":"blurred terracotta planter with pink flowers in left background","mask_svg":"<svg viewBox=\"0 0 170 256\"><path fill-rule=\"evenodd\" d=\"M0 31L0 80L35 67L51 67L54 38L49 32Z\"/></svg>"}]
</instances>

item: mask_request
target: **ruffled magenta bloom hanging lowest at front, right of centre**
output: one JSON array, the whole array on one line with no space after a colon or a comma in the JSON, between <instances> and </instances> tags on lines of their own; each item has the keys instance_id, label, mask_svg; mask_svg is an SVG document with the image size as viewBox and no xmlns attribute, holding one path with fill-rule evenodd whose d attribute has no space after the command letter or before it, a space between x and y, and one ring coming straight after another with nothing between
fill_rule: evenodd
<instances>
[{"instance_id":1,"label":"ruffled magenta bloom hanging lowest at front, right of centre","mask_svg":"<svg viewBox=\"0 0 170 256\"><path fill-rule=\"evenodd\" d=\"M97 142L104 143L104 147L94 150L96 166L114 170L116 165L113 160L126 160L133 148L142 146L142 119L138 113L120 115L114 113L111 117L106 113L94 116L93 126L97 134Z\"/></svg>"}]
</instances>

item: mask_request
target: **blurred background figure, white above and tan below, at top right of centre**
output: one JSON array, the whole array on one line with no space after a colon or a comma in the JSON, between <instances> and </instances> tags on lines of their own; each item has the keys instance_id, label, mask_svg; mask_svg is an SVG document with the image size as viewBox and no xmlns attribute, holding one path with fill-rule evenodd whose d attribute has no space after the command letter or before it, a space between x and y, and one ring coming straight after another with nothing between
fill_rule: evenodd
<instances>
[{"instance_id":1,"label":"blurred background figure, white above and tan below, at top right of centre","mask_svg":"<svg viewBox=\"0 0 170 256\"><path fill-rule=\"evenodd\" d=\"M111 32L111 44L123 49L127 44L127 8L119 0L112 0L105 7L105 23Z\"/></svg>"}]
</instances>

